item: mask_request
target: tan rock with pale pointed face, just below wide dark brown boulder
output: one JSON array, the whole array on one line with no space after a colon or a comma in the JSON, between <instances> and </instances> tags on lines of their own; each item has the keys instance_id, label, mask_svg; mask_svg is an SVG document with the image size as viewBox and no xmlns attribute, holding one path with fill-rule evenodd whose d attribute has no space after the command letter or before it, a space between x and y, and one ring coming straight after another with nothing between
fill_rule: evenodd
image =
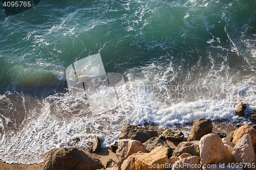
<instances>
[{"instance_id":1,"label":"tan rock with pale pointed face, just below wide dark brown boulder","mask_svg":"<svg viewBox=\"0 0 256 170\"><path fill-rule=\"evenodd\" d=\"M116 156L118 160L122 163L130 155L137 152L148 153L149 151L144 147L144 145L133 139L121 139L118 141L118 149L116 150Z\"/></svg>"}]
</instances>

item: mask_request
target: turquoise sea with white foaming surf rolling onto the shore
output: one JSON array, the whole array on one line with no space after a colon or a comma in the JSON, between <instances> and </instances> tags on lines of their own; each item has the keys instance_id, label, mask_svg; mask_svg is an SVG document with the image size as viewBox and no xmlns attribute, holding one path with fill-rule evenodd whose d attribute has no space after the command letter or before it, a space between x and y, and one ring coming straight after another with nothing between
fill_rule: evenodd
<instances>
[{"instance_id":1,"label":"turquoise sea with white foaming surf rolling onto the shore","mask_svg":"<svg viewBox=\"0 0 256 170\"><path fill-rule=\"evenodd\" d=\"M106 146L126 123L238 121L237 100L256 109L255 16L256 1L46 0L9 17L1 7L0 159L41 162L89 134ZM97 53L128 92L115 113L91 116L65 70Z\"/></svg>"}]
</instances>

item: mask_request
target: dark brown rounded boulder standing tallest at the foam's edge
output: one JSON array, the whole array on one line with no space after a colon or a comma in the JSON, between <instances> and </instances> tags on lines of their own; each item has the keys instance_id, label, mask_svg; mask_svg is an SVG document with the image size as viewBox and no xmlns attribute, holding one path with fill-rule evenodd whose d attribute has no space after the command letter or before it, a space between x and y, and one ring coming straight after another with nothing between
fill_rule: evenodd
<instances>
[{"instance_id":1,"label":"dark brown rounded boulder standing tallest at the foam's edge","mask_svg":"<svg viewBox=\"0 0 256 170\"><path fill-rule=\"evenodd\" d=\"M194 120L187 141L200 140L204 135L211 133L212 123L210 119L198 118Z\"/></svg>"}]
</instances>

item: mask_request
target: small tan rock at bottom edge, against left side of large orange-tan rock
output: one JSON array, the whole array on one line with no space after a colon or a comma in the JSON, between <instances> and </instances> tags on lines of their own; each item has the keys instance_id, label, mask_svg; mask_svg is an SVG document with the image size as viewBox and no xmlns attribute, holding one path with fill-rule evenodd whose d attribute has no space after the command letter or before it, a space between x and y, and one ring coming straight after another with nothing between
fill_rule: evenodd
<instances>
[{"instance_id":1,"label":"small tan rock at bottom edge, against left side of large orange-tan rock","mask_svg":"<svg viewBox=\"0 0 256 170\"><path fill-rule=\"evenodd\" d=\"M121 165L121 170L135 170L135 162L139 159L142 155L146 153L138 152L135 154L130 155L127 159L125 159Z\"/></svg>"}]
</instances>

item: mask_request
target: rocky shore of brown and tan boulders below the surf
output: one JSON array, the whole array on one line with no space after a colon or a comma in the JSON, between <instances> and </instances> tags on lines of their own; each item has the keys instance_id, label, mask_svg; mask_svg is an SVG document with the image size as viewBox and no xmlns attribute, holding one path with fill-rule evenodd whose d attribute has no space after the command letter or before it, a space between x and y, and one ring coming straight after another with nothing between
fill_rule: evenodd
<instances>
[{"instance_id":1,"label":"rocky shore of brown and tan boulders below the surf","mask_svg":"<svg viewBox=\"0 0 256 170\"><path fill-rule=\"evenodd\" d=\"M238 104L236 108L237 114L244 116L246 105ZM226 124L229 126L218 131L223 125L205 118L195 119L189 135L184 137L181 131L127 124L111 147L101 148L99 138L94 136L85 149L50 150L37 169L256 169L256 125Z\"/></svg>"}]
</instances>

